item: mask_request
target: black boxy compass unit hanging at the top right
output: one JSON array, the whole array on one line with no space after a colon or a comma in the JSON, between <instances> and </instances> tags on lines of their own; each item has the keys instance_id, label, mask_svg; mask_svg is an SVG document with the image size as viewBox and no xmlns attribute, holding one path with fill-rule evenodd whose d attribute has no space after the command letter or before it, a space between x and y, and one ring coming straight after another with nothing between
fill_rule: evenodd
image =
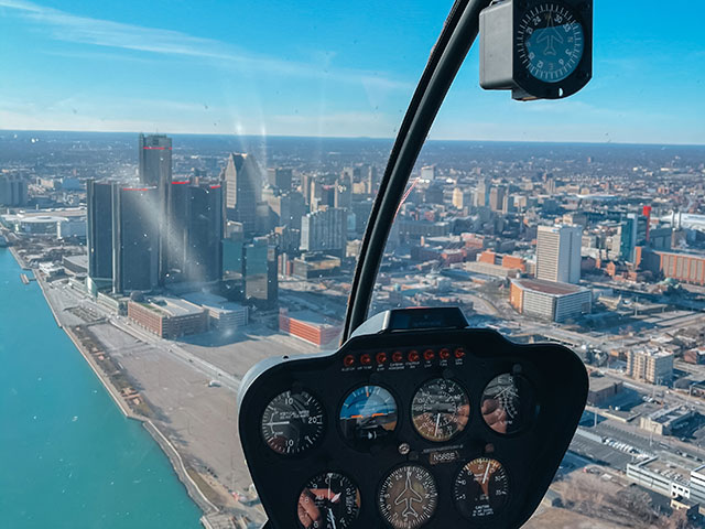
<instances>
[{"instance_id":1,"label":"black boxy compass unit hanging at the top right","mask_svg":"<svg viewBox=\"0 0 705 529\"><path fill-rule=\"evenodd\" d=\"M562 69L561 74L539 72L536 63L529 60L531 52L525 46L530 37L527 30L535 30L531 21L552 14L567 21L566 25L556 26L556 31L563 33L556 33L555 37L546 35L549 39L543 41L551 53L565 55L565 67L555 66ZM561 24L552 20L553 23ZM579 24L582 31L573 31L572 24ZM583 42L577 45L573 39ZM501 0L480 13L482 88L511 90L514 99L524 101L563 99L582 90L592 78L593 0Z\"/></svg>"}]
</instances>

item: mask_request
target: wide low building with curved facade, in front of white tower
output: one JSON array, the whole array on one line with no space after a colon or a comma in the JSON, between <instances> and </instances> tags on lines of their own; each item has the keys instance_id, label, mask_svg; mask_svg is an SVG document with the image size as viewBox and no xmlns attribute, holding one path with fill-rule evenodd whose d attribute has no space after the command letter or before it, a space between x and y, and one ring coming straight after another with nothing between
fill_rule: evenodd
<instances>
[{"instance_id":1,"label":"wide low building with curved facade, in front of white tower","mask_svg":"<svg viewBox=\"0 0 705 529\"><path fill-rule=\"evenodd\" d=\"M557 323L589 314L593 310L589 290L538 279L512 280L509 301L521 314Z\"/></svg>"}]
</instances>

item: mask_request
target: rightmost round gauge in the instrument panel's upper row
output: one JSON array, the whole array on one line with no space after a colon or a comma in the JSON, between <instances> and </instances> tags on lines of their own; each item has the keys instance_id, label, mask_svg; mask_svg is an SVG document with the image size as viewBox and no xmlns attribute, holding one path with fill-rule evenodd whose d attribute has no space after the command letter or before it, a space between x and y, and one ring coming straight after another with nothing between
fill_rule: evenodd
<instances>
[{"instance_id":1,"label":"rightmost round gauge in the instrument panel's upper row","mask_svg":"<svg viewBox=\"0 0 705 529\"><path fill-rule=\"evenodd\" d=\"M487 425L497 433L519 433L536 417L535 393L523 377L500 375L485 388L480 411Z\"/></svg>"}]
</instances>

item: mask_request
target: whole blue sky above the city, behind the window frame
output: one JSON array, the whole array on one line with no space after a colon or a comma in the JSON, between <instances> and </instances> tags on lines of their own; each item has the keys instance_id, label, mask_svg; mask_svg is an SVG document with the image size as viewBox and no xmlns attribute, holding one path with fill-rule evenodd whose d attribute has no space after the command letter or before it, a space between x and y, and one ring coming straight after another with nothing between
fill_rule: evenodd
<instances>
[{"instance_id":1,"label":"whole blue sky above the city, behind the window frame","mask_svg":"<svg viewBox=\"0 0 705 529\"><path fill-rule=\"evenodd\" d=\"M0 128L393 137L451 0L0 0ZM435 139L705 144L705 4L597 0L564 101L478 84Z\"/></svg>"}]
</instances>

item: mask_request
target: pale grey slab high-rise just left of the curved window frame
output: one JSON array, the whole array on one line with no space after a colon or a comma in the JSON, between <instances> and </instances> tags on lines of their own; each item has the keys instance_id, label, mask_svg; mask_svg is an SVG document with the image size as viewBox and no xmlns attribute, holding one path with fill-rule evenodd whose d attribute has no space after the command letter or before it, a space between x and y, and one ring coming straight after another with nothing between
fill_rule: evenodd
<instances>
[{"instance_id":1,"label":"pale grey slab high-rise just left of the curved window frame","mask_svg":"<svg viewBox=\"0 0 705 529\"><path fill-rule=\"evenodd\" d=\"M346 242L346 209L330 207L310 213L301 219L302 251L325 251L340 257L345 253Z\"/></svg>"}]
</instances>

